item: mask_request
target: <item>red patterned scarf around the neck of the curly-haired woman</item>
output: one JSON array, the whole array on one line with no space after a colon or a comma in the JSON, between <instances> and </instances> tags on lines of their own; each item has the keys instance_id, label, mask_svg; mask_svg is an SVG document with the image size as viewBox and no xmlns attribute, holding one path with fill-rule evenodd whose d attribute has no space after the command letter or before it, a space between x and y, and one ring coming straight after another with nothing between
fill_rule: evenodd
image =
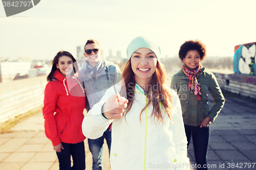
<instances>
[{"instance_id":1,"label":"red patterned scarf around the neck of the curly-haired woman","mask_svg":"<svg viewBox=\"0 0 256 170\"><path fill-rule=\"evenodd\" d=\"M188 78L188 89L192 91L193 94L197 95L197 100L201 99L200 95L202 94L201 85L197 81L197 75L198 75L198 72L201 71L201 68L202 68L202 65L199 64L197 69L195 69L194 71L190 71L187 68L186 64L182 66L182 72Z\"/></svg>"}]
</instances>

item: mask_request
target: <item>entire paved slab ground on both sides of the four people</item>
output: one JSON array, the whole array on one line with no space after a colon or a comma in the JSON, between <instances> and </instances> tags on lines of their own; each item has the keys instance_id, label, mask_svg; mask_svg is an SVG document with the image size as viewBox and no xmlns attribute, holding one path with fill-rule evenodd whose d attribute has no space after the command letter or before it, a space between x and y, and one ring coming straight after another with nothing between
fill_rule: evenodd
<instances>
[{"instance_id":1,"label":"entire paved slab ground on both sides of the four people","mask_svg":"<svg viewBox=\"0 0 256 170\"><path fill-rule=\"evenodd\" d=\"M209 97L209 99L211 99ZM212 105L212 101L209 101ZM209 169L256 169L256 105L238 98L226 98L215 123L210 125ZM0 134L1 170L56 170L58 160L44 132L42 113L35 114ZM92 169L92 155L86 146L86 169ZM108 147L104 144L104 167L110 169ZM196 167L193 144L188 157Z\"/></svg>"}]
</instances>

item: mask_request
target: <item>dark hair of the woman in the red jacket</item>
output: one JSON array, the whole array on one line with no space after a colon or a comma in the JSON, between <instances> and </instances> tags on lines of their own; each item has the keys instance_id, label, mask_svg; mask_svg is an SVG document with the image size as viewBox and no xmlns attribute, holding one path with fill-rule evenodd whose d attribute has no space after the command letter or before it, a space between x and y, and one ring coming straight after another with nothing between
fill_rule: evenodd
<instances>
[{"instance_id":1,"label":"dark hair of the woman in the red jacket","mask_svg":"<svg viewBox=\"0 0 256 170\"><path fill-rule=\"evenodd\" d=\"M59 58L62 57L62 56L67 56L67 57L70 57L73 61L73 70L74 70L74 73L76 72L76 70L78 70L77 68L77 63L76 63L76 59L72 56L72 54L70 54L69 52L66 52L66 51L60 51L57 53L57 55L53 58L53 61L52 61L52 70L50 72L50 74L47 76L47 81L50 82L52 81L52 79L54 78L53 74L54 72L58 69L56 67L56 64L59 62ZM73 73L73 72L72 72Z\"/></svg>"}]
</instances>

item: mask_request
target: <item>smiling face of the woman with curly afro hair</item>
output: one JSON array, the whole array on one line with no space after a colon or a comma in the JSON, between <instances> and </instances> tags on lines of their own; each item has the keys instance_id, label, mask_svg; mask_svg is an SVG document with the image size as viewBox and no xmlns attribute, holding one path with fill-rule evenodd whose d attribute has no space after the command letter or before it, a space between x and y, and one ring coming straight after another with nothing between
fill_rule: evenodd
<instances>
[{"instance_id":1,"label":"smiling face of the woman with curly afro hair","mask_svg":"<svg viewBox=\"0 0 256 170\"><path fill-rule=\"evenodd\" d=\"M194 71L200 64L201 58L197 50L190 50L187 52L183 62L187 65L190 71Z\"/></svg>"}]
</instances>

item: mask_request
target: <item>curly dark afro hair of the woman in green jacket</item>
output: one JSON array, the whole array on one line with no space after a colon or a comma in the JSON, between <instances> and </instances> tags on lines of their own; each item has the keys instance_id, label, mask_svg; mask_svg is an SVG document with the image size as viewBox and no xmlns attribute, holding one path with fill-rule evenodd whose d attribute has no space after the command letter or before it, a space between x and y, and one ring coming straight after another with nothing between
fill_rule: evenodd
<instances>
[{"instance_id":1,"label":"curly dark afro hair of the woman in green jacket","mask_svg":"<svg viewBox=\"0 0 256 170\"><path fill-rule=\"evenodd\" d=\"M190 50L196 50L200 54L201 61L206 58L206 46L204 43L202 43L199 40L189 40L185 41L181 46L180 46L180 51L179 51L179 58L183 62L183 59L186 57L187 52Z\"/></svg>"}]
</instances>

